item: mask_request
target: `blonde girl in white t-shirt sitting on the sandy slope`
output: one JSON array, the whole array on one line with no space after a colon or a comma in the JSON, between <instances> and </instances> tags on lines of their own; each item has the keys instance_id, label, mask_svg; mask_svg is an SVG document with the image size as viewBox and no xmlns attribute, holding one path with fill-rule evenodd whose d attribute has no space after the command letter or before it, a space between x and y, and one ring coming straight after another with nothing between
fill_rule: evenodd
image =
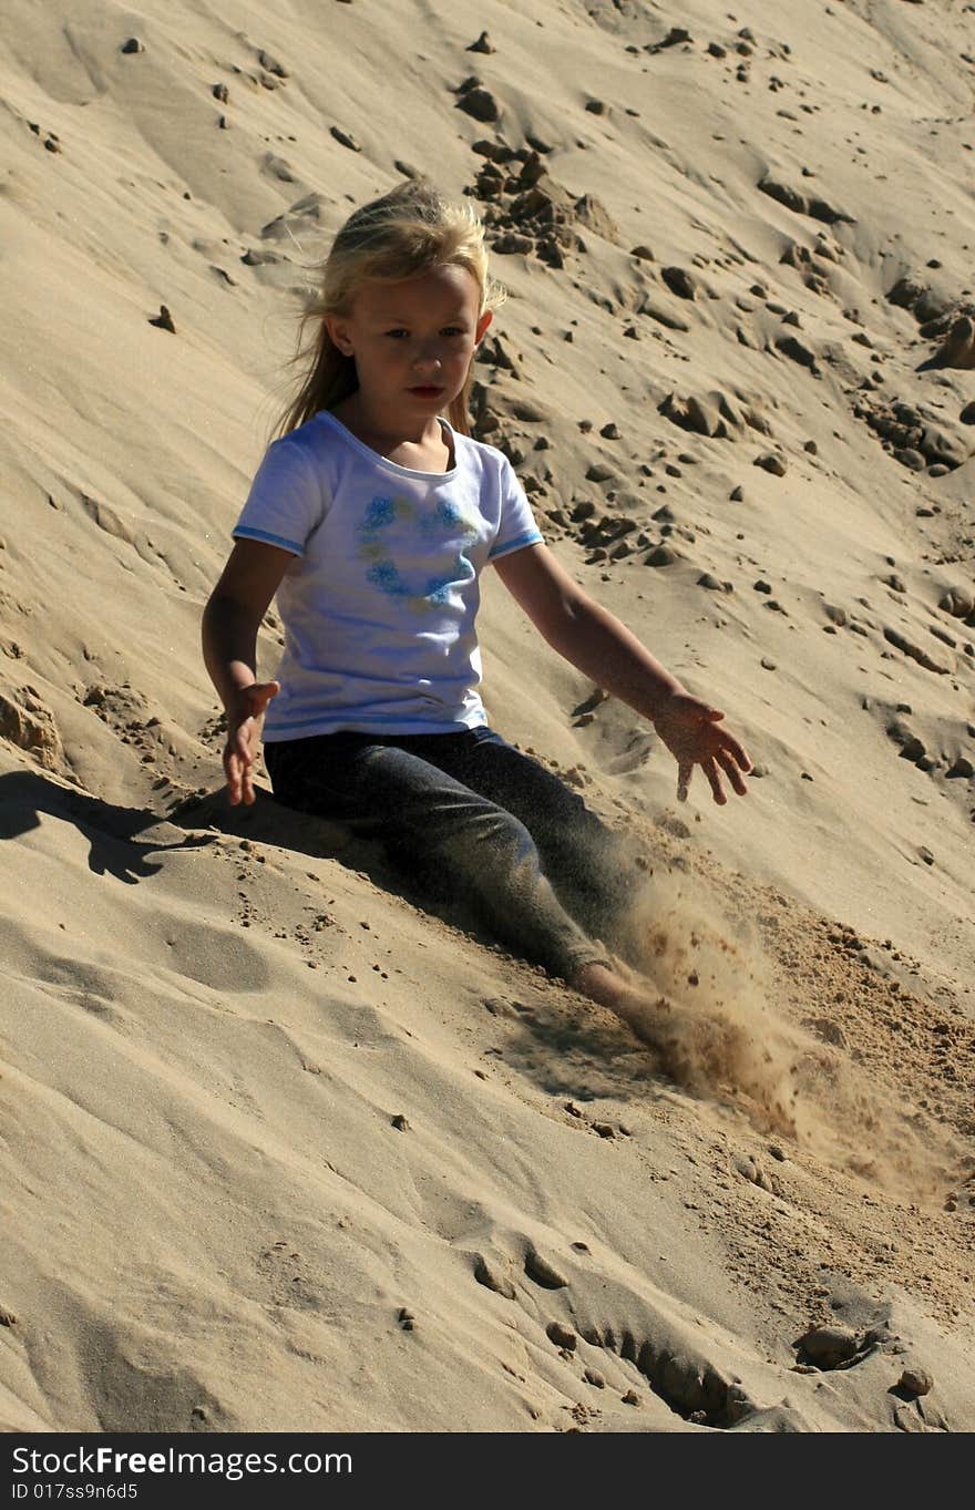
<instances>
[{"instance_id":1,"label":"blonde girl in white t-shirt sitting on the sandy slope","mask_svg":"<svg viewBox=\"0 0 975 1510\"><path fill-rule=\"evenodd\" d=\"M715 802L723 778L743 796L750 761L723 714L572 581L507 458L471 439L472 358L500 297L474 213L427 183L400 184L338 233L302 322L314 359L204 615L228 794L254 802L266 714L282 803L380 838L423 883L472 903L498 939L666 1049L672 1009L605 947L620 947L637 879L619 841L488 726L483 568L551 646L654 723L679 799L694 766ZM275 593L281 680L258 683L257 631Z\"/></svg>"}]
</instances>

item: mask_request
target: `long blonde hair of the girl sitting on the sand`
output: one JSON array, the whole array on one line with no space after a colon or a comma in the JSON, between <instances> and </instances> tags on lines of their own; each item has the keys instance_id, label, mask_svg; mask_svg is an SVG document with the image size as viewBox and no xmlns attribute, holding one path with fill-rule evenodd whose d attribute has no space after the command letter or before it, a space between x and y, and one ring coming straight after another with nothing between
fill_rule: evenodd
<instances>
[{"instance_id":1,"label":"long blonde hair of the girl sitting on the sand","mask_svg":"<svg viewBox=\"0 0 975 1510\"><path fill-rule=\"evenodd\" d=\"M359 387L355 358L332 343L326 314L350 314L365 282L401 282L444 266L466 267L474 275L480 288L478 314L503 304L504 288L488 276L484 228L469 204L451 204L429 180L408 178L355 210L337 234L321 288L302 316L291 365L308 365L308 371L275 433L287 435L321 409L334 409ZM309 325L314 332L305 341ZM448 408L450 423L462 435L471 433L471 385L472 370Z\"/></svg>"}]
</instances>

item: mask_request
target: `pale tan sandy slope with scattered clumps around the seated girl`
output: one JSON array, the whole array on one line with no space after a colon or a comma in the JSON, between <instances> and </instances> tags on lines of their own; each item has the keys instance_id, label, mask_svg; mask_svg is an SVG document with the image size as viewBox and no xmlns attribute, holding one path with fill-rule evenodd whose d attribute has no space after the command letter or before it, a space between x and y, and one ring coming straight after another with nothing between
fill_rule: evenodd
<instances>
[{"instance_id":1,"label":"pale tan sandy slope with scattered clumps around the seated girl","mask_svg":"<svg viewBox=\"0 0 975 1510\"><path fill-rule=\"evenodd\" d=\"M5 8L8 1428L972 1428L972 8L768 11ZM199 612L397 163L515 248L478 433L759 763L678 811L486 584L492 717L641 846L738 1089L220 800Z\"/></svg>"}]
</instances>

